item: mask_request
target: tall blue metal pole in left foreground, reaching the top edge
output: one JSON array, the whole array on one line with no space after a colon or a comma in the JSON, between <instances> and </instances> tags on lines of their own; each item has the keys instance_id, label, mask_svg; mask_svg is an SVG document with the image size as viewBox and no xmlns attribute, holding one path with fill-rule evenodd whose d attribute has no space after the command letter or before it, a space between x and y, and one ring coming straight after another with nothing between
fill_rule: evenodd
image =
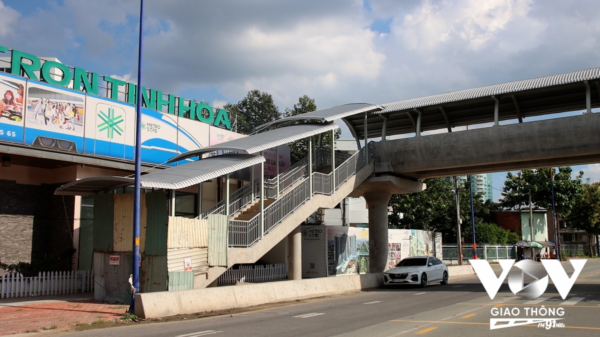
<instances>
[{"instance_id":1,"label":"tall blue metal pole in left foreground, reaching the top edge","mask_svg":"<svg viewBox=\"0 0 600 337\"><path fill-rule=\"evenodd\" d=\"M131 293L129 312L136 307L136 293L140 291L140 176L142 174L142 33L144 18L144 0L140 0L140 40L137 54L137 106L136 106L136 170L133 190L133 258L131 261L131 280L135 291Z\"/></svg>"}]
</instances>

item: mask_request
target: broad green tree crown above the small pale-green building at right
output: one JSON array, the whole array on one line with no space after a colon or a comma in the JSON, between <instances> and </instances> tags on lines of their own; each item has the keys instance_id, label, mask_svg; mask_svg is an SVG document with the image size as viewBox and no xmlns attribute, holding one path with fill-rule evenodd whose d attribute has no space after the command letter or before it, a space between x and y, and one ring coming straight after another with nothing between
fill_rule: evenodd
<instances>
[{"instance_id":1,"label":"broad green tree crown above the small pale-green building at right","mask_svg":"<svg viewBox=\"0 0 600 337\"><path fill-rule=\"evenodd\" d=\"M569 215L573 206L581 200L583 171L580 171L575 179L571 179L572 169L569 166L559 167L558 173L556 169L552 170L556 212L563 216ZM506 174L500 205L506 209L529 207L529 191L536 207L552 208L550 169L523 170L517 174Z\"/></svg>"}]
</instances>

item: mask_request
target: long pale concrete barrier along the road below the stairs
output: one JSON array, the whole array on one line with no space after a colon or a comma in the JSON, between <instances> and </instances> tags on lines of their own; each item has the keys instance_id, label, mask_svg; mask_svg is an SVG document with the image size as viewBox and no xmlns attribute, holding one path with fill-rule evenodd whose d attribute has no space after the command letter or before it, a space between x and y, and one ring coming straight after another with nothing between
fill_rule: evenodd
<instances>
[{"instance_id":1,"label":"long pale concrete barrier along the road below the stairs","mask_svg":"<svg viewBox=\"0 0 600 337\"><path fill-rule=\"evenodd\" d=\"M377 288L381 285L383 285L383 274L373 273L143 293L136 294L135 314L142 318L156 318L209 310L244 308Z\"/></svg>"}]
</instances>

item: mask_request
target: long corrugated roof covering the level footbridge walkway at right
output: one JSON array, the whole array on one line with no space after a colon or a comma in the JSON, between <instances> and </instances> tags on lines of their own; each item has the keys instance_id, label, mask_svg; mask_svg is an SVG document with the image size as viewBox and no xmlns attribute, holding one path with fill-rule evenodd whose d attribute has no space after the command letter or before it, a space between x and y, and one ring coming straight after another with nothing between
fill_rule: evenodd
<instances>
[{"instance_id":1,"label":"long corrugated roof covering the level footbridge walkway at right","mask_svg":"<svg viewBox=\"0 0 600 337\"><path fill-rule=\"evenodd\" d=\"M418 112L421 131L480 124L494 121L499 100L499 120L526 118L550 113L586 109L586 83L591 86L592 107L600 107L600 68L519 80L428 97L383 104L385 109L367 118L369 137L414 133ZM359 137L364 137L364 117L349 116L346 121Z\"/></svg>"}]
</instances>

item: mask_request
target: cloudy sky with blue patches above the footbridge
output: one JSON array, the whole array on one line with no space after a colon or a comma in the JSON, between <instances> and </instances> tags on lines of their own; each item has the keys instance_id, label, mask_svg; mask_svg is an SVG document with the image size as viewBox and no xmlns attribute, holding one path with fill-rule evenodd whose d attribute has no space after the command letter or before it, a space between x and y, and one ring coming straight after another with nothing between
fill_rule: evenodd
<instances>
[{"instance_id":1,"label":"cloudy sky with blue patches above the footbridge","mask_svg":"<svg viewBox=\"0 0 600 337\"><path fill-rule=\"evenodd\" d=\"M137 78L139 0L0 0L0 17L2 46ZM146 0L142 81L215 107L252 89L281 112L383 104L598 67L598 17L595 0Z\"/></svg>"}]
</instances>

